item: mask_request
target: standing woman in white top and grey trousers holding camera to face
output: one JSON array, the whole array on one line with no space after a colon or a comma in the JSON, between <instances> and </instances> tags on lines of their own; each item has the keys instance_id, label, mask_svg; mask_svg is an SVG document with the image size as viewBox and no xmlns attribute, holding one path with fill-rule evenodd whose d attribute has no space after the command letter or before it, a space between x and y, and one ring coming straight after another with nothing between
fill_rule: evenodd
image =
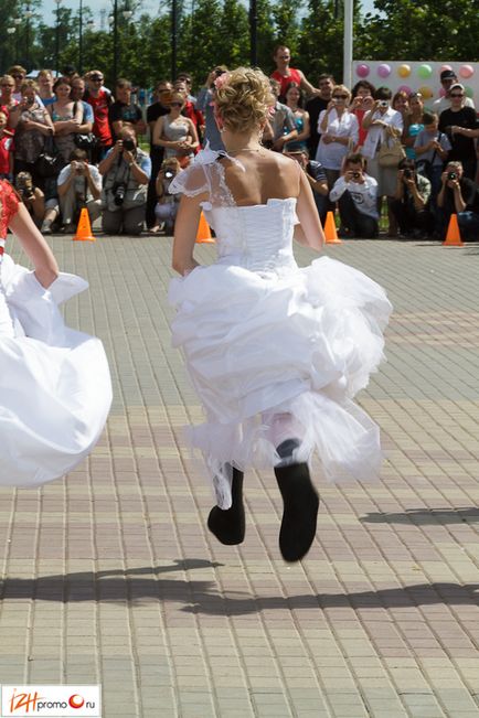
<instances>
[{"instance_id":1,"label":"standing woman in white top and grey trousers holding camera to face","mask_svg":"<svg viewBox=\"0 0 479 718\"><path fill-rule=\"evenodd\" d=\"M383 167L380 162L381 146L383 143L391 146L403 133L403 116L391 107L391 89L387 87L379 87L374 93L374 106L364 115L363 119L363 128L368 131L368 137L364 141L362 154L368 160L368 174L377 181L380 212L381 199L383 196L387 197L387 234L396 236L397 225L391 211L391 204L396 193L397 164L401 158L397 159L395 165L391 167Z\"/></svg>"}]
</instances>

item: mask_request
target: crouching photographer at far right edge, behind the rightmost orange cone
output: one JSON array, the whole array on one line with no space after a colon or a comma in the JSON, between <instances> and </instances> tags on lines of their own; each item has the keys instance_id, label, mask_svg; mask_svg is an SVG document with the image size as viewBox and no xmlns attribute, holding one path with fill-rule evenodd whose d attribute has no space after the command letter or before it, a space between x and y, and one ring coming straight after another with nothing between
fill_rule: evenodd
<instances>
[{"instance_id":1,"label":"crouching photographer at far right edge, behind the rightmost orange cone","mask_svg":"<svg viewBox=\"0 0 479 718\"><path fill-rule=\"evenodd\" d=\"M462 239L479 239L479 187L464 176L461 162L448 162L441 175L441 187L437 195L441 231L446 235L451 214L457 214Z\"/></svg>"}]
</instances>

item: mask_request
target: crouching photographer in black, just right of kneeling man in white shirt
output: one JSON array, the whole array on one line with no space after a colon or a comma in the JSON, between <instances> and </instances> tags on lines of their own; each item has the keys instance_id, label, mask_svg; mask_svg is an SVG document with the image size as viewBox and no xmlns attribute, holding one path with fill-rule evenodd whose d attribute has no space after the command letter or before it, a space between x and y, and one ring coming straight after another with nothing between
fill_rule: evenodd
<instances>
[{"instance_id":1,"label":"crouching photographer in black, just right of kneeling man in white shirt","mask_svg":"<svg viewBox=\"0 0 479 718\"><path fill-rule=\"evenodd\" d=\"M416 172L414 160L401 160L397 165L396 192L391 203L401 235L419 238L432 234L434 216L428 208L429 197L429 180Z\"/></svg>"}]
</instances>

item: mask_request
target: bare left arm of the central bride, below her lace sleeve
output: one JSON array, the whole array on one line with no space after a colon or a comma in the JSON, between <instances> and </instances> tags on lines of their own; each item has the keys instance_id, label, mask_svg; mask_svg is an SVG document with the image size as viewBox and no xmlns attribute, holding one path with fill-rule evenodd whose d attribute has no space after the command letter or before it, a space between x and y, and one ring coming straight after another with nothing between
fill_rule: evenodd
<instances>
[{"instance_id":1,"label":"bare left arm of the central bride, below her lace sleeve","mask_svg":"<svg viewBox=\"0 0 479 718\"><path fill-rule=\"evenodd\" d=\"M193 257L196 242L198 223L200 222L200 203L206 200L206 194L188 197L183 194L174 223L173 261L172 267L179 275L188 275L198 267Z\"/></svg>"}]
</instances>

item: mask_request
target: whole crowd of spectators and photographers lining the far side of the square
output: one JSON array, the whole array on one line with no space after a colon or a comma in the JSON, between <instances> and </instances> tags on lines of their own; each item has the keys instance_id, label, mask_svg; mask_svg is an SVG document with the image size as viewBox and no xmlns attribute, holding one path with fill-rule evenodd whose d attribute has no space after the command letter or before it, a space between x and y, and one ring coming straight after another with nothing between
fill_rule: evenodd
<instances>
[{"instance_id":1,"label":"whole crowd of spectators and photographers lining the far side of the square","mask_svg":"<svg viewBox=\"0 0 479 718\"><path fill-rule=\"evenodd\" d=\"M274 62L262 142L299 163L322 221L337 211L343 236L375 237L384 202L390 236L441 238L454 213L464 237L478 238L479 121L453 71L428 104L364 79L350 89L329 73L315 86L285 46ZM224 149L214 93L226 71L215 66L198 96L188 73L160 81L142 108L126 78L111 90L99 69L31 79L14 65L0 78L0 175L45 234L74 232L82 208L107 234L170 234L172 178L206 142Z\"/></svg>"}]
</instances>

